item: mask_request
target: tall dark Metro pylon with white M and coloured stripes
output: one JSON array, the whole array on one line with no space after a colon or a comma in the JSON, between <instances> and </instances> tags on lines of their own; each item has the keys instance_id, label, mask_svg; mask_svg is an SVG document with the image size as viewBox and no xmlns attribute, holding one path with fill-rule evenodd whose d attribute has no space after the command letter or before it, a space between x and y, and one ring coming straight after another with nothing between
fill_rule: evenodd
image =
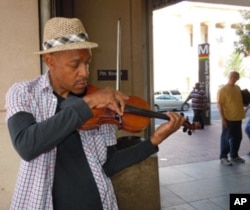
<instances>
[{"instance_id":1,"label":"tall dark Metro pylon with white M and coloured stripes","mask_svg":"<svg viewBox=\"0 0 250 210\"><path fill-rule=\"evenodd\" d=\"M198 45L199 58L199 83L204 88L208 103L210 104L210 66L209 66L209 44ZM210 109L205 111L204 121L205 125L210 125Z\"/></svg>"}]
</instances>

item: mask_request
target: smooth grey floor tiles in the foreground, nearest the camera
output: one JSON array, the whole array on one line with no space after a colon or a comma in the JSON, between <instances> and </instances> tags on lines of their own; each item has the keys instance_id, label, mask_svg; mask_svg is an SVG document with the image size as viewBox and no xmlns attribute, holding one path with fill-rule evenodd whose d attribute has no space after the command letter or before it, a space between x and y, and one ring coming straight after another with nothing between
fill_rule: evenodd
<instances>
[{"instance_id":1,"label":"smooth grey floor tiles in the foreground, nearest the camera","mask_svg":"<svg viewBox=\"0 0 250 210\"><path fill-rule=\"evenodd\" d=\"M161 210L229 210L230 194L250 195L250 156L242 157L232 166L210 160L159 168Z\"/></svg>"}]
</instances>

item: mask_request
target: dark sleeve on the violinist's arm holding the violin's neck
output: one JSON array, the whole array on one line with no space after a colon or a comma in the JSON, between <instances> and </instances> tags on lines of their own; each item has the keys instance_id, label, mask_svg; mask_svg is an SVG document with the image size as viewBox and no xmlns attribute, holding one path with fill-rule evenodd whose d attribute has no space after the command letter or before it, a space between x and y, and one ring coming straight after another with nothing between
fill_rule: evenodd
<instances>
[{"instance_id":1,"label":"dark sleeve on the violinist's arm holding the violin's neck","mask_svg":"<svg viewBox=\"0 0 250 210\"><path fill-rule=\"evenodd\" d=\"M107 176L112 176L122 169L145 160L158 150L159 148L153 146L150 139L121 150L117 150L115 146L110 146L108 147L107 161L103 166L104 171Z\"/></svg>"}]
</instances>

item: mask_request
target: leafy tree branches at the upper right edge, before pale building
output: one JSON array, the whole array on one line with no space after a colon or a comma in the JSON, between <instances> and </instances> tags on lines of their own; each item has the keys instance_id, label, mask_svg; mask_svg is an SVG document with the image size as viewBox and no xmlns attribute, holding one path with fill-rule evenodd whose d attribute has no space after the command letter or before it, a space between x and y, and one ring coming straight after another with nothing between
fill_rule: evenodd
<instances>
[{"instance_id":1,"label":"leafy tree branches at the upper right edge, before pale building","mask_svg":"<svg viewBox=\"0 0 250 210\"><path fill-rule=\"evenodd\" d=\"M235 50L238 53L242 53L244 56L250 55L250 11L240 11L243 21L236 29L236 35L239 40L234 42Z\"/></svg>"}]
</instances>

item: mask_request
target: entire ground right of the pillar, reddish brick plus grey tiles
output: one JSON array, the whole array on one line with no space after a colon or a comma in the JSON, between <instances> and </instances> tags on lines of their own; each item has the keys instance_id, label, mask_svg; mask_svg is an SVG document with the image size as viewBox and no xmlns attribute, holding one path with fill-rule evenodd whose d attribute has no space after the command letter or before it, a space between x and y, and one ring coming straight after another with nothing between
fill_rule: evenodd
<instances>
[{"instance_id":1,"label":"entire ground right of the pillar, reddish brick plus grey tiles","mask_svg":"<svg viewBox=\"0 0 250 210\"><path fill-rule=\"evenodd\" d=\"M183 135L178 131L160 146L162 210L229 210L230 193L250 193L250 142L245 135L240 155L246 163L233 166L218 160L220 122Z\"/></svg>"}]
</instances>

